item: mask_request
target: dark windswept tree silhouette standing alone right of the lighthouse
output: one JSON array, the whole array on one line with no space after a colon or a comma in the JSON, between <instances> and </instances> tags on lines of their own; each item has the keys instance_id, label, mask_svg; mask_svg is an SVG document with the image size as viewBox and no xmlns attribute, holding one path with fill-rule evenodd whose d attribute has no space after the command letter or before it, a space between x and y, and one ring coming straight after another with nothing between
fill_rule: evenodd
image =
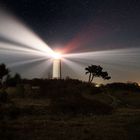
<instances>
[{"instance_id":1,"label":"dark windswept tree silhouette standing alone right of the lighthouse","mask_svg":"<svg viewBox=\"0 0 140 140\"><path fill-rule=\"evenodd\" d=\"M99 65L91 65L85 68L86 74L89 74L89 82L91 83L95 77L101 77L104 80L109 80L111 77L108 76L108 73L102 71L103 68Z\"/></svg>"}]
</instances>

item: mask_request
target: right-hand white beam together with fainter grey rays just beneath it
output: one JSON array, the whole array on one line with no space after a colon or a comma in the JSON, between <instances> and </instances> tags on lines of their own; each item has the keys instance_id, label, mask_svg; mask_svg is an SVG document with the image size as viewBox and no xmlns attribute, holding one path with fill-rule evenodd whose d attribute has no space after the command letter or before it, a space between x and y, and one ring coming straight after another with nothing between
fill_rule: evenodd
<instances>
[{"instance_id":1,"label":"right-hand white beam together with fainter grey rays just beneath it","mask_svg":"<svg viewBox=\"0 0 140 140\"><path fill-rule=\"evenodd\" d=\"M140 68L138 65L138 60L140 59L139 48L65 54L63 57L76 59L81 62L102 62L110 65L134 66L135 68Z\"/></svg>"}]
</instances>

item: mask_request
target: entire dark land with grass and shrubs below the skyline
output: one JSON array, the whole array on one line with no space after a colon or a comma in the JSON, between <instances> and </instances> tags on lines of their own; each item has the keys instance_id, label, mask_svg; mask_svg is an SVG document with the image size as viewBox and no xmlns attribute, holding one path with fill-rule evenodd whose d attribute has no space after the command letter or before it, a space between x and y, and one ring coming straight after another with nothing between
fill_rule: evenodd
<instances>
[{"instance_id":1,"label":"entire dark land with grass and shrubs below the skyline","mask_svg":"<svg viewBox=\"0 0 140 140\"><path fill-rule=\"evenodd\" d=\"M96 87L73 79L22 79L9 72L2 77L0 140L139 140L139 134L137 83Z\"/></svg>"}]
</instances>

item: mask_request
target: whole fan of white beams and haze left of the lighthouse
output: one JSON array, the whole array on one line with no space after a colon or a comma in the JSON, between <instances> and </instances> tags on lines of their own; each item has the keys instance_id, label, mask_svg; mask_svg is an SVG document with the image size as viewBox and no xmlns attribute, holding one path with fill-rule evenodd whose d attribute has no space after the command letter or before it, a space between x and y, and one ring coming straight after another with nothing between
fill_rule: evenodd
<instances>
[{"instance_id":1,"label":"whole fan of white beams and haze left of the lighthouse","mask_svg":"<svg viewBox=\"0 0 140 140\"><path fill-rule=\"evenodd\" d=\"M52 54L54 51L23 22L0 10L0 63L25 77L39 77L50 70L47 59Z\"/></svg>"}]
</instances>

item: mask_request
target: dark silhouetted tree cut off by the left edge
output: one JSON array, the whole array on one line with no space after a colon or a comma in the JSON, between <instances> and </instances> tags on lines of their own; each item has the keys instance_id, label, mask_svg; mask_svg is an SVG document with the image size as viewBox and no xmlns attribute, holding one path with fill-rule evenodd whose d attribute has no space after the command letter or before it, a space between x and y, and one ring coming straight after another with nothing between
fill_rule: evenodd
<instances>
[{"instance_id":1,"label":"dark silhouetted tree cut off by the left edge","mask_svg":"<svg viewBox=\"0 0 140 140\"><path fill-rule=\"evenodd\" d=\"M9 69L5 64L0 64L0 85L2 86L3 78L9 74Z\"/></svg>"}]
</instances>

